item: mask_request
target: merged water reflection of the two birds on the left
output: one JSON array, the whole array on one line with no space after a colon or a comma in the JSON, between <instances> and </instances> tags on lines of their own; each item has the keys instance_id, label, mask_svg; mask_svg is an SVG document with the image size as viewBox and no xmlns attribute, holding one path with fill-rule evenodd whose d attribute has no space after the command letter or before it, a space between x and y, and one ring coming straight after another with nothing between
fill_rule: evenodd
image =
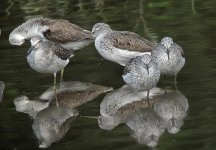
<instances>
[{"instance_id":1,"label":"merged water reflection of the two birds on the left","mask_svg":"<svg viewBox=\"0 0 216 150\"><path fill-rule=\"evenodd\" d=\"M34 100L19 96L14 99L14 104L17 111L33 117L32 128L39 148L47 148L68 132L72 121L79 114L75 108L111 90L111 87L80 81L62 82L57 87L59 107L53 101L55 91L52 87Z\"/></svg>"}]
</instances>

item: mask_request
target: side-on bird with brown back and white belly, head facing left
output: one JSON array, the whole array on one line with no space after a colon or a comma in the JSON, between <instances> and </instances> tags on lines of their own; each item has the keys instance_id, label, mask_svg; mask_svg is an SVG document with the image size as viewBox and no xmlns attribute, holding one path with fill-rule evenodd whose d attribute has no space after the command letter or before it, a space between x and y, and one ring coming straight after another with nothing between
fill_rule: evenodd
<instances>
[{"instance_id":1,"label":"side-on bird with brown back and white belly, head facing left","mask_svg":"<svg viewBox=\"0 0 216 150\"><path fill-rule=\"evenodd\" d=\"M99 54L122 66L136 56L149 53L156 43L129 31L115 31L108 24L97 23L92 28L95 47Z\"/></svg>"}]
</instances>

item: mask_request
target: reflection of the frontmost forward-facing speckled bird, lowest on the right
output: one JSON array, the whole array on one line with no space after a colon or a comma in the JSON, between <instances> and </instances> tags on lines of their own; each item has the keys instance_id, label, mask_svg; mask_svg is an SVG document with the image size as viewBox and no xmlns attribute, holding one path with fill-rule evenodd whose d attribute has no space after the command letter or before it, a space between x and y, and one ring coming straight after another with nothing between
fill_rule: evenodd
<instances>
[{"instance_id":1,"label":"reflection of the frontmost forward-facing speckled bird, lowest on the right","mask_svg":"<svg viewBox=\"0 0 216 150\"><path fill-rule=\"evenodd\" d=\"M163 120L152 109L140 108L126 122L131 129L131 135L138 143L155 147L159 137L164 133Z\"/></svg>"}]
</instances>

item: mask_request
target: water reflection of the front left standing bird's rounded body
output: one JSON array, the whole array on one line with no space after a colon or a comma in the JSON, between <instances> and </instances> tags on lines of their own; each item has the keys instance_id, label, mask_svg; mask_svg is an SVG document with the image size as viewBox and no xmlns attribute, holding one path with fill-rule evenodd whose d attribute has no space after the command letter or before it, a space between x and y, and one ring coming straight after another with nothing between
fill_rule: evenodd
<instances>
[{"instance_id":1,"label":"water reflection of the front left standing bird's rounded body","mask_svg":"<svg viewBox=\"0 0 216 150\"><path fill-rule=\"evenodd\" d=\"M70 129L71 119L77 115L76 110L62 106L51 106L40 111L32 124L39 148L49 147L61 140Z\"/></svg>"}]
</instances>

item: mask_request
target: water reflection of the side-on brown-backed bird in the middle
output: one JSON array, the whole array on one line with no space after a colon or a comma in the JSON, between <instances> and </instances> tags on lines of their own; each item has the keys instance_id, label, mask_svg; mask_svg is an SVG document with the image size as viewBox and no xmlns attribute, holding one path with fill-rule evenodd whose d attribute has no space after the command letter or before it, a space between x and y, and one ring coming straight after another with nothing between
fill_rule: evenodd
<instances>
[{"instance_id":1,"label":"water reflection of the side-on brown-backed bird in the middle","mask_svg":"<svg viewBox=\"0 0 216 150\"><path fill-rule=\"evenodd\" d=\"M150 105L165 90L153 88L150 90ZM127 117L136 111L138 107L147 107L147 91L134 92L128 85L108 93L100 104L98 125L104 130L112 130L120 123L124 123Z\"/></svg>"}]
</instances>

